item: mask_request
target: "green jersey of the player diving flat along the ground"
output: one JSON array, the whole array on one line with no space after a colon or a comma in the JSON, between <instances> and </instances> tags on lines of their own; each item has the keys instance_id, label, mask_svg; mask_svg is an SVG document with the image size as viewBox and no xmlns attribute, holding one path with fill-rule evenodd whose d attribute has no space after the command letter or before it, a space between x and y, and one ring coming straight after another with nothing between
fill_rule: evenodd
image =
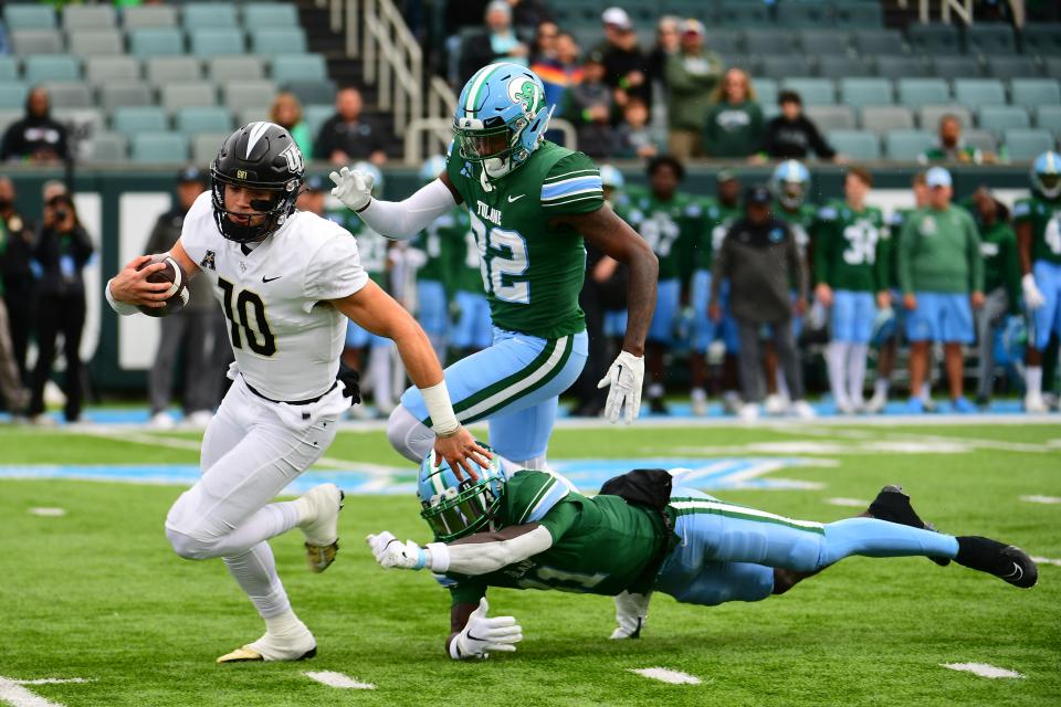
<instances>
[{"instance_id":1,"label":"green jersey of the player diving flat along the ground","mask_svg":"<svg viewBox=\"0 0 1061 707\"><path fill-rule=\"evenodd\" d=\"M660 514L618 496L588 498L546 472L516 472L505 483L498 519L501 527L539 523L553 536L553 547L489 574L448 573L455 582L450 585L454 604L477 603L487 587L609 597L631 588L644 591L668 541Z\"/></svg>"}]
</instances>

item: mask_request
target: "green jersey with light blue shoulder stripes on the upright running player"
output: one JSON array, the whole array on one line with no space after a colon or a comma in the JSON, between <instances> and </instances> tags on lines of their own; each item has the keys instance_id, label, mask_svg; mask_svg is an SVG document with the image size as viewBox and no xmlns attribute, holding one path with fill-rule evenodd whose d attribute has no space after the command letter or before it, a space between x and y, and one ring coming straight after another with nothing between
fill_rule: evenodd
<instances>
[{"instance_id":1,"label":"green jersey with light blue shoulder stripes on the upright running player","mask_svg":"<svg viewBox=\"0 0 1061 707\"><path fill-rule=\"evenodd\" d=\"M480 181L481 168L461 159L459 150L445 169L470 213L494 325L544 339L584 330L578 293L586 247L578 231L550 220L603 204L592 160L545 141L523 166L493 180L489 191Z\"/></svg>"}]
</instances>

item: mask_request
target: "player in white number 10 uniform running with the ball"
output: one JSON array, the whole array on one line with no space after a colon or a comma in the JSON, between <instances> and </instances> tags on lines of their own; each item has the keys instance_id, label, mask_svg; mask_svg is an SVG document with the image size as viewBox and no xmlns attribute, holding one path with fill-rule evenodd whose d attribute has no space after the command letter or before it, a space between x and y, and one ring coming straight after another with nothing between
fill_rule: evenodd
<instances>
[{"instance_id":1,"label":"player in white number 10 uniform running with the ball","mask_svg":"<svg viewBox=\"0 0 1061 707\"><path fill-rule=\"evenodd\" d=\"M369 281L357 243L342 226L296 211L303 157L272 123L233 133L210 167L212 188L192 205L170 255L189 277L202 273L229 320L233 384L202 441L202 478L166 518L174 550L188 559L221 557L265 620L265 634L218 658L294 661L316 641L291 610L267 540L292 528L306 537L313 571L338 549L343 494L323 484L291 503L271 503L335 437L357 400L336 380L346 317L393 339L424 398L434 405L435 450L471 473L489 453L456 421L442 368L423 330ZM118 314L159 306L167 284L147 282L161 264L134 258L106 287ZM344 317L346 315L346 317Z\"/></svg>"}]
</instances>

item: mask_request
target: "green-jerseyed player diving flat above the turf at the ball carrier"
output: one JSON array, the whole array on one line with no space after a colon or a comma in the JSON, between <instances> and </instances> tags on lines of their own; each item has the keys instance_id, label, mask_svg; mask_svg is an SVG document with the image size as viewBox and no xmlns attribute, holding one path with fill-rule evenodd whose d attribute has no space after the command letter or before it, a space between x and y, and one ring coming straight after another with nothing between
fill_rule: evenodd
<instances>
[{"instance_id":1,"label":"green-jerseyed player diving flat above the turf at the ball carrier","mask_svg":"<svg viewBox=\"0 0 1061 707\"><path fill-rule=\"evenodd\" d=\"M624 495L635 488L652 507L587 497L548 473L512 473L496 455L479 481L460 482L432 455L420 466L417 495L435 541L421 547L387 531L366 540L385 568L444 576L452 598L445 647L455 659L515 651L523 639L515 619L487 616L490 587L616 597L612 637L634 637L653 590L707 606L759 601L854 555L953 559L1020 588L1038 579L1036 563L1013 546L933 531L901 487L885 486L863 516L821 524L671 492L671 478L639 469L606 484L632 482Z\"/></svg>"}]
</instances>

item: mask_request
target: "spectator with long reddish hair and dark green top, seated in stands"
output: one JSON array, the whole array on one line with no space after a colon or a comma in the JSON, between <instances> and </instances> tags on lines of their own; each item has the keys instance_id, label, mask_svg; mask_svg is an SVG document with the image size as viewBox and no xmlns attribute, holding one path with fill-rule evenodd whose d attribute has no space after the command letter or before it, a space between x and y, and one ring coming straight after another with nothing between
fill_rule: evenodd
<instances>
[{"instance_id":1,"label":"spectator with long reddish hair and dark green top, seated in stands","mask_svg":"<svg viewBox=\"0 0 1061 707\"><path fill-rule=\"evenodd\" d=\"M704 124L707 157L750 157L763 145L763 109L743 68L731 68L712 97Z\"/></svg>"}]
</instances>

